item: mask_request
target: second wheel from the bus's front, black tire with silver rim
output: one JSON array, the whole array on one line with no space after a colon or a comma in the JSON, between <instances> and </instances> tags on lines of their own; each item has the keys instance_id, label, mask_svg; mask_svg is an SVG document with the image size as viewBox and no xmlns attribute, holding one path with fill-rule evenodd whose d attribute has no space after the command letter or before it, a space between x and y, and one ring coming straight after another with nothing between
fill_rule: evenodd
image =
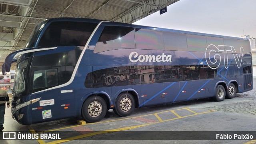
<instances>
[{"instance_id":1,"label":"second wheel from the bus's front, black tire with silver rim","mask_svg":"<svg viewBox=\"0 0 256 144\"><path fill-rule=\"evenodd\" d=\"M124 107L124 104L126 104L125 107ZM134 97L132 96L132 94L124 92L117 97L115 108L113 110L118 116L123 117L123 116L129 116L130 114L132 114L132 112L134 111L134 108L135 108Z\"/></svg>"}]
</instances>

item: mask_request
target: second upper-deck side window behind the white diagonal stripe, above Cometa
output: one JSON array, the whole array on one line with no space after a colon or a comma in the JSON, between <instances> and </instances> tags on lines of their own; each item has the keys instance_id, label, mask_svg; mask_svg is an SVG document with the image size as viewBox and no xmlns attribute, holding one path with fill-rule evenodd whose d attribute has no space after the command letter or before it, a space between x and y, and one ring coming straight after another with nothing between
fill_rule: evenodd
<instances>
[{"instance_id":1,"label":"second upper-deck side window behind the white diagonal stripe, above Cometa","mask_svg":"<svg viewBox=\"0 0 256 144\"><path fill-rule=\"evenodd\" d=\"M136 49L164 50L162 32L136 28Z\"/></svg>"}]
</instances>

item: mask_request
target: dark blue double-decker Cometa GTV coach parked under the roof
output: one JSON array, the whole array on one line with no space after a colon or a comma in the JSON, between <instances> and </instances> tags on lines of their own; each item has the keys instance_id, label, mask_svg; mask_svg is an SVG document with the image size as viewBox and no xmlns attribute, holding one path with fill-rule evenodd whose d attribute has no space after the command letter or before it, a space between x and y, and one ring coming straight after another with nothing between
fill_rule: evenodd
<instances>
[{"instance_id":1,"label":"dark blue double-decker Cometa GTV coach parked under the roof","mask_svg":"<svg viewBox=\"0 0 256 144\"><path fill-rule=\"evenodd\" d=\"M18 56L18 58L16 58ZM223 101L252 90L252 54L243 38L86 18L40 22L16 64L12 116L20 124L82 117L98 122L109 109L199 98Z\"/></svg>"}]
</instances>

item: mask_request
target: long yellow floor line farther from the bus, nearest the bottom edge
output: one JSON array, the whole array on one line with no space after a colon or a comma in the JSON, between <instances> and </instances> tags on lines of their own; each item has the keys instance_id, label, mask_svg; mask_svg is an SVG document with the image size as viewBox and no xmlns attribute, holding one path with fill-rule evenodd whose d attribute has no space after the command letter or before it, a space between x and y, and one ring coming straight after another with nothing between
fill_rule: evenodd
<instances>
[{"instance_id":1,"label":"long yellow floor line farther from the bus, nearest the bottom edge","mask_svg":"<svg viewBox=\"0 0 256 144\"><path fill-rule=\"evenodd\" d=\"M88 136L94 136L94 135L97 135L97 134L105 134L105 133L108 133L108 132L117 132L117 131L123 131L123 130L130 130L130 129L139 128L139 127L142 127L142 126L148 126L148 125L151 125L151 124L158 124L160 122L167 122L167 121L170 121L170 120L186 118L186 117L189 117L189 116L196 116L196 115L199 115L199 114L206 114L206 113L209 113L209 112L210 111L202 112L202 113L198 113L198 114L191 114L191 115L188 115L188 116L180 116L180 117L177 117L177 118L172 118L172 119L169 119L169 120L162 120L162 121L159 121L159 122L154 122L154 123L149 123L149 124L141 124L141 125L137 125L137 126L129 126L129 127L124 127L124 128L116 128L116 129L112 129L112 130L104 130L104 131L101 131L101 132L92 132L92 133L89 133L89 134L82 134L82 135L79 135L79 136L74 136L74 137L71 137L71 138L66 138L66 139L63 139L63 140L56 140L56 141L53 141L53 142L48 142L47 144L58 144L58 143L62 143L62 142L68 142L70 140L76 140L76 139L80 139L80 138L86 138Z\"/></svg>"}]
</instances>

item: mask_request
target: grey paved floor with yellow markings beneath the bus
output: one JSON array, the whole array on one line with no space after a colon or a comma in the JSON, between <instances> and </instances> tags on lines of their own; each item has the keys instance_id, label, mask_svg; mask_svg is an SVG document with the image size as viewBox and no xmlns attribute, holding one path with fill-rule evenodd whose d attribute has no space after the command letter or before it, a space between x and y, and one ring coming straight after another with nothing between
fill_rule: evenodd
<instances>
[{"instance_id":1,"label":"grey paved floor with yellow markings beneath the bus","mask_svg":"<svg viewBox=\"0 0 256 144\"><path fill-rule=\"evenodd\" d=\"M254 79L254 84L256 80ZM12 119L10 108L6 108L3 131L35 132L53 130L65 132L67 140L1 140L1 144L15 143L60 143L66 144L112 144L112 143L143 143L143 144L250 144L256 140L168 140L168 133L180 131L256 131L256 88L233 99L223 102L211 102L208 99L191 100L168 105L136 109L131 116L121 118L108 111L106 117L94 124L77 125L76 120L66 119L31 126L20 125ZM210 112L212 110L213 112ZM180 117L179 117L180 116ZM80 128L80 129L79 129ZM104 130L112 132L102 133ZM117 132L113 132L117 131ZM118 132L122 131L122 132ZM158 132L160 131L160 132ZM166 132L166 133L163 133ZM99 132L98 135L94 135ZM149 133L148 133L149 132ZM152 132L152 133L150 133ZM88 135L89 134L89 135ZM90 135L91 134L91 135ZM163 140L147 140L161 134ZM186 139L187 137L184 137ZM63 139L63 138L62 138ZM112 139L112 140L109 140ZM165 139L165 140L164 140ZM256 137L254 138L256 139Z\"/></svg>"}]
</instances>

